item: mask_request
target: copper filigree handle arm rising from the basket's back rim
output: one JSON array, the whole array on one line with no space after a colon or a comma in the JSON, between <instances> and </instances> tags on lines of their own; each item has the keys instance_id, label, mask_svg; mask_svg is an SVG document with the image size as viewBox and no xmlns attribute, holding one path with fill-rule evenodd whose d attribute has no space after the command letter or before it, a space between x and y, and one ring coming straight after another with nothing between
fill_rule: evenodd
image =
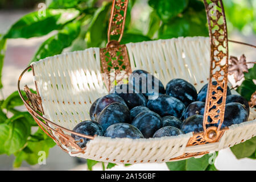
<instances>
[{"instance_id":1,"label":"copper filigree handle arm rising from the basket's back rim","mask_svg":"<svg viewBox=\"0 0 256 182\"><path fill-rule=\"evenodd\" d=\"M121 41L123 36L123 30L125 28L125 18L128 6L128 0L113 0L111 16L109 20L108 29L108 42L110 42L110 36L119 35L118 42Z\"/></svg>"}]
</instances>

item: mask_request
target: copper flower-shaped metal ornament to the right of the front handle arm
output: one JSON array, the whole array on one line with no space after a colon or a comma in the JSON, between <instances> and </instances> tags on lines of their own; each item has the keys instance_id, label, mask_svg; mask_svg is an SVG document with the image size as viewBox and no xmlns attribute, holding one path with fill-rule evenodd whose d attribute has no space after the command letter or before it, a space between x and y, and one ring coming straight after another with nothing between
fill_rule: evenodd
<instances>
[{"instance_id":1,"label":"copper flower-shaped metal ornament to the right of the front handle arm","mask_svg":"<svg viewBox=\"0 0 256 182\"><path fill-rule=\"evenodd\" d=\"M242 80L242 78L245 76L243 73L244 72L248 73L248 67L246 65L245 55L242 55L239 60L235 56L230 56L229 60L230 60L230 64L228 67L229 75L234 75L234 79L236 82Z\"/></svg>"}]
</instances>

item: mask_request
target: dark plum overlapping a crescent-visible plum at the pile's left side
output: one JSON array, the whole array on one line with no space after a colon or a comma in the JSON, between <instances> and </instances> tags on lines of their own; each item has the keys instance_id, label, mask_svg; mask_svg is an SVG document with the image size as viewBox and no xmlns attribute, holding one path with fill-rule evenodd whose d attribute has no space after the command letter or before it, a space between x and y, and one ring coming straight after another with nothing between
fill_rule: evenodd
<instances>
[{"instance_id":1,"label":"dark plum overlapping a crescent-visible plum at the pile's left side","mask_svg":"<svg viewBox=\"0 0 256 182\"><path fill-rule=\"evenodd\" d=\"M114 102L101 111L97 122L101 124L104 131L114 123L130 123L130 111L127 106Z\"/></svg>"}]
</instances>

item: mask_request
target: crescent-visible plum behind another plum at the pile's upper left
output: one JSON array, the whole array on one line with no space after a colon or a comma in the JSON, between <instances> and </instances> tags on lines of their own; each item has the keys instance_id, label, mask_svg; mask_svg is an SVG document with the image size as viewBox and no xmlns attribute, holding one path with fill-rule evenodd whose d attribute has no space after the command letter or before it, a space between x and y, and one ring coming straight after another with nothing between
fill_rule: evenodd
<instances>
[{"instance_id":1,"label":"crescent-visible plum behind another plum at the pile's upper left","mask_svg":"<svg viewBox=\"0 0 256 182\"><path fill-rule=\"evenodd\" d=\"M89 111L90 118L93 121L96 121L96 118L101 113L101 111L105 109L106 106L112 104L113 102L119 102L120 104L127 106L125 101L122 99L122 97L119 97L116 94L108 94L104 97L98 98L96 101L93 102Z\"/></svg>"}]
</instances>

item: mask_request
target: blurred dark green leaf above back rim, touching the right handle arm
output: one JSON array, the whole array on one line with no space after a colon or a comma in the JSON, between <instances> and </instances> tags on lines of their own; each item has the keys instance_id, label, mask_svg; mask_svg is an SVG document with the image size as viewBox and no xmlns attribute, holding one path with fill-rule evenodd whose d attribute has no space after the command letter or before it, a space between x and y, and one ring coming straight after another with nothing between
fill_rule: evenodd
<instances>
[{"instance_id":1,"label":"blurred dark green leaf above back rim, touching the right handle arm","mask_svg":"<svg viewBox=\"0 0 256 182\"><path fill-rule=\"evenodd\" d=\"M172 19L172 22L162 24L158 36L160 39L179 36L208 36L205 10L196 12L188 9L183 17L176 17Z\"/></svg>"}]
</instances>

